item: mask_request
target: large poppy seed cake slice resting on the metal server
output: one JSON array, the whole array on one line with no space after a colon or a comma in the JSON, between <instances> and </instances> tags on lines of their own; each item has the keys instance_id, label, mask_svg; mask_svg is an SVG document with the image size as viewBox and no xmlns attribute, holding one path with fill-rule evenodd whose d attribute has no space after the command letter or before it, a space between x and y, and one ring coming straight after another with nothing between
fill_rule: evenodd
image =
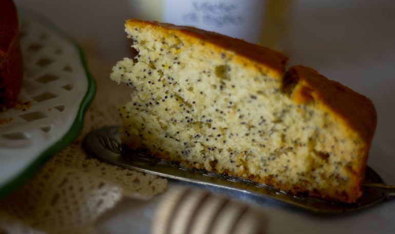
<instances>
[{"instance_id":1,"label":"large poppy seed cake slice resting on the metal server","mask_svg":"<svg viewBox=\"0 0 395 234\"><path fill-rule=\"evenodd\" d=\"M353 203L376 111L281 53L213 32L131 19L138 55L111 79L133 88L123 141L156 157Z\"/></svg>"}]
</instances>

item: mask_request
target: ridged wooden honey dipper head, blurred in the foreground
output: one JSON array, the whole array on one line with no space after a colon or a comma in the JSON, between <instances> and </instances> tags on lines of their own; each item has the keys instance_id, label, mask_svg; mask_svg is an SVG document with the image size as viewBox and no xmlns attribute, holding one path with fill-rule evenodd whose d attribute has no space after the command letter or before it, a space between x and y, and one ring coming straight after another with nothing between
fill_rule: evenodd
<instances>
[{"instance_id":1,"label":"ridged wooden honey dipper head, blurred in the foreground","mask_svg":"<svg viewBox=\"0 0 395 234\"><path fill-rule=\"evenodd\" d=\"M153 234L258 234L265 219L241 202L203 189L172 188L156 209Z\"/></svg>"}]
</instances>

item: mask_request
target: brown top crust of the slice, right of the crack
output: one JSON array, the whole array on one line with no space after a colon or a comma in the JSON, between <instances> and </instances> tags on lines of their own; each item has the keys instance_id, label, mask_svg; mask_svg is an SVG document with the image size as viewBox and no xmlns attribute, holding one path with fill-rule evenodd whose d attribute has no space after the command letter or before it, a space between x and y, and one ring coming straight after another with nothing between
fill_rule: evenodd
<instances>
[{"instance_id":1,"label":"brown top crust of the slice, right of the crack","mask_svg":"<svg viewBox=\"0 0 395 234\"><path fill-rule=\"evenodd\" d=\"M373 103L364 95L328 80L305 66L293 66L285 74L284 82L292 86L290 94L295 103L309 103L328 109L358 132L365 142L371 142L377 125Z\"/></svg>"}]
</instances>

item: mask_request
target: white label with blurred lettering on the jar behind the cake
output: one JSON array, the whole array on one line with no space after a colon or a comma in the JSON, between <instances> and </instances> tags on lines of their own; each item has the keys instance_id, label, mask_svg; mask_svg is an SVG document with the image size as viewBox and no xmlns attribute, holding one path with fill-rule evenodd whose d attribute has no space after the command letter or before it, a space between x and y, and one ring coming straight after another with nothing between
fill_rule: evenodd
<instances>
[{"instance_id":1,"label":"white label with blurred lettering on the jar behind the cake","mask_svg":"<svg viewBox=\"0 0 395 234\"><path fill-rule=\"evenodd\" d=\"M260 41L264 0L164 0L163 21Z\"/></svg>"}]
</instances>

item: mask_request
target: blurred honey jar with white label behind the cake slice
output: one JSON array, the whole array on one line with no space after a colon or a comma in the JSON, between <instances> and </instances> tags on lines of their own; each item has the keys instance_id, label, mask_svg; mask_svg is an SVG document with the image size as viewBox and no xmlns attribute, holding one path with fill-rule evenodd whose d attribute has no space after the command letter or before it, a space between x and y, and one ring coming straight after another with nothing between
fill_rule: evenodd
<instances>
[{"instance_id":1,"label":"blurred honey jar with white label behind the cake slice","mask_svg":"<svg viewBox=\"0 0 395 234\"><path fill-rule=\"evenodd\" d=\"M133 17L215 31L286 50L292 0L128 0Z\"/></svg>"}]
</instances>

